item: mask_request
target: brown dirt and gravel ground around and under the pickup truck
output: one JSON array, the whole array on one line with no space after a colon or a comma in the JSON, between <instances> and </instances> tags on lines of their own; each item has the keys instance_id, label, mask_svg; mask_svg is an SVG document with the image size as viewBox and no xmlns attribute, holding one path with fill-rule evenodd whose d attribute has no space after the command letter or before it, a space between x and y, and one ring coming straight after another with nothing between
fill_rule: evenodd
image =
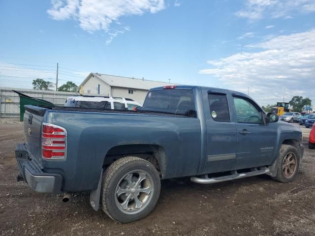
<instances>
[{"instance_id":1,"label":"brown dirt and gravel ground around and under the pickup truck","mask_svg":"<svg viewBox=\"0 0 315 236\"><path fill-rule=\"evenodd\" d=\"M298 125L298 124L295 124ZM292 183L267 176L201 185L189 178L162 181L160 199L145 219L120 225L89 205L87 193L62 203L16 182L15 144L22 123L0 119L0 236L17 235L315 235L315 150L307 148Z\"/></svg>"}]
</instances>

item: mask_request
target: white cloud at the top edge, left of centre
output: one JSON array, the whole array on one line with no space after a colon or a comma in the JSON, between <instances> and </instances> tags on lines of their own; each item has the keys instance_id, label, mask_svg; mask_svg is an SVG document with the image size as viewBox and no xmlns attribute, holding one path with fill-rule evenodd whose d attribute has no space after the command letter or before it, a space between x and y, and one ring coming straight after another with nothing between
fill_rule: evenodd
<instances>
[{"instance_id":1,"label":"white cloud at the top edge, left of centre","mask_svg":"<svg viewBox=\"0 0 315 236\"><path fill-rule=\"evenodd\" d=\"M123 16L156 13L165 8L164 0L52 0L47 12L55 20L75 19L82 29L108 31Z\"/></svg>"}]
</instances>

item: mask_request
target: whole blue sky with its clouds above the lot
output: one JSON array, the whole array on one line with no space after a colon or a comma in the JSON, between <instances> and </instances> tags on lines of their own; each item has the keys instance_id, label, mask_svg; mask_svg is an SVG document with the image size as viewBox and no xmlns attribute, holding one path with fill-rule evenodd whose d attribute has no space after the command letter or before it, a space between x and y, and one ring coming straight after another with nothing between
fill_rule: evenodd
<instances>
[{"instance_id":1,"label":"whole blue sky with its clouds above the lot","mask_svg":"<svg viewBox=\"0 0 315 236\"><path fill-rule=\"evenodd\" d=\"M0 0L0 35L0 86L54 82L58 62L59 85L98 72L315 101L314 0Z\"/></svg>"}]
</instances>

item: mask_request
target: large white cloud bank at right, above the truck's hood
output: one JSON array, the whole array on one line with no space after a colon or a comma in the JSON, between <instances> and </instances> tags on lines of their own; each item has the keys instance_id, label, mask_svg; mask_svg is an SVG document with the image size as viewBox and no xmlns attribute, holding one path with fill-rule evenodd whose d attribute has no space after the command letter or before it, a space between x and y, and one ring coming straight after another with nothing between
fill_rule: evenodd
<instances>
[{"instance_id":1,"label":"large white cloud bank at right, above the truck's hood","mask_svg":"<svg viewBox=\"0 0 315 236\"><path fill-rule=\"evenodd\" d=\"M309 96L315 101L315 29L274 37L248 45L254 52L241 52L209 60L211 68L201 74L218 77L228 88L247 93L261 104L283 96ZM257 52L258 50L258 52Z\"/></svg>"}]
</instances>

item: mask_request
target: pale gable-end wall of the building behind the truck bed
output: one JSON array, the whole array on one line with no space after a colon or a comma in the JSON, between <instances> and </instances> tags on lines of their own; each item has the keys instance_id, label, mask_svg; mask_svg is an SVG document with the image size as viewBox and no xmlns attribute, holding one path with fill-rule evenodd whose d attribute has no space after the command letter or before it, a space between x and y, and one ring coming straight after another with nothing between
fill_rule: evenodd
<instances>
[{"instance_id":1,"label":"pale gable-end wall of the building behind the truck bed","mask_svg":"<svg viewBox=\"0 0 315 236\"><path fill-rule=\"evenodd\" d=\"M99 95L102 96L110 96L110 86L106 84L104 81L99 80L96 77L91 77L84 85L83 85L83 93L84 94L98 94L98 85L99 85Z\"/></svg>"}]
</instances>

